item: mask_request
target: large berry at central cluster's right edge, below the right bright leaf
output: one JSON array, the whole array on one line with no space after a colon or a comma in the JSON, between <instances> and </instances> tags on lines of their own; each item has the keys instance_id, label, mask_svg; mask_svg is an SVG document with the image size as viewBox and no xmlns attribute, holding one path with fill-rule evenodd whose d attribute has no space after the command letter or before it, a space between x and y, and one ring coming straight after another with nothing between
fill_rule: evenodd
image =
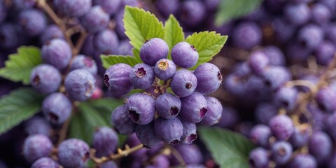
<instances>
[{"instance_id":1,"label":"large berry at central cluster's right edge, below the right bright leaf","mask_svg":"<svg viewBox=\"0 0 336 168\"><path fill-rule=\"evenodd\" d=\"M215 92L221 85L223 76L218 67L211 63L200 64L194 75L197 78L197 92L209 94Z\"/></svg>"}]
</instances>

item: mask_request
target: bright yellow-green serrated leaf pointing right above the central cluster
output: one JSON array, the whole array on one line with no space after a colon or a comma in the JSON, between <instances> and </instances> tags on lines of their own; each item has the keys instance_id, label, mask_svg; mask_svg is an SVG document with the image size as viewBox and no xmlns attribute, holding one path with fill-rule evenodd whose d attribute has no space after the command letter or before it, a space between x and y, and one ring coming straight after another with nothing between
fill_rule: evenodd
<instances>
[{"instance_id":1,"label":"bright yellow-green serrated leaf pointing right above the central cluster","mask_svg":"<svg viewBox=\"0 0 336 168\"><path fill-rule=\"evenodd\" d=\"M209 62L223 48L228 36L216 34L216 31L202 31L194 33L186 38L186 42L195 46L199 59L195 66L191 69L196 69L197 66L205 62Z\"/></svg>"}]
</instances>

